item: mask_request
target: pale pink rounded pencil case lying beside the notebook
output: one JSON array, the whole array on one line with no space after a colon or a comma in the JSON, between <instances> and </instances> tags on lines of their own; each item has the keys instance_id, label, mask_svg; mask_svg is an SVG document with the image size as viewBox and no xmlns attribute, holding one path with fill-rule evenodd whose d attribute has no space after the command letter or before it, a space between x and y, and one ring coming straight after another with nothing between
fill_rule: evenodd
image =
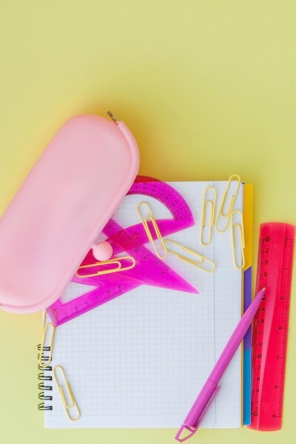
<instances>
[{"instance_id":1,"label":"pale pink rounded pencil case lying beside the notebook","mask_svg":"<svg viewBox=\"0 0 296 444\"><path fill-rule=\"evenodd\" d=\"M32 313L60 297L138 172L124 123L70 118L0 219L0 304Z\"/></svg>"}]
</instances>

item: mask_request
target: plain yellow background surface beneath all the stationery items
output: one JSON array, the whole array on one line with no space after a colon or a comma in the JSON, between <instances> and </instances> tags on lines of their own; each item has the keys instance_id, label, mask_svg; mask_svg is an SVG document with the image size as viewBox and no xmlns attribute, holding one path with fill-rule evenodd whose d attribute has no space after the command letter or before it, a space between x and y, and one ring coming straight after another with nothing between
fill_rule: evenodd
<instances>
[{"instance_id":1,"label":"plain yellow background surface beneath all the stationery items","mask_svg":"<svg viewBox=\"0 0 296 444\"><path fill-rule=\"evenodd\" d=\"M295 18L294 0L0 0L0 211L67 118L111 109L141 174L254 185L256 264L259 224L296 223ZM295 443L295 296L294 273L283 429L192 443ZM0 331L1 443L175 442L173 430L45 430L40 313L2 312Z\"/></svg>"}]
</instances>

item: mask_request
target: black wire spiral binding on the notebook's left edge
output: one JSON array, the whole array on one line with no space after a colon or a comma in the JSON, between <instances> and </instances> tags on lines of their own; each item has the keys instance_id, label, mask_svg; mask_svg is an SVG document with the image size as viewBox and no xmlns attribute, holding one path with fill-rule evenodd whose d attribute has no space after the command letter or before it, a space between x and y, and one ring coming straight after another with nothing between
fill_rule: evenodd
<instances>
[{"instance_id":1,"label":"black wire spiral binding on the notebook's left edge","mask_svg":"<svg viewBox=\"0 0 296 444\"><path fill-rule=\"evenodd\" d=\"M41 344L38 345L38 380L40 381L38 383L38 390L40 390L38 394L38 399L40 399L40 404L38 404L38 410L53 410L53 406L47 404L47 401L53 401L53 396L49 394L45 394L45 392L50 392L53 390L53 385L51 381L53 380L52 371L53 367L51 365L48 365L48 367L44 367L43 365L40 365L40 362L48 361L50 355L51 347L45 347Z\"/></svg>"}]
</instances>

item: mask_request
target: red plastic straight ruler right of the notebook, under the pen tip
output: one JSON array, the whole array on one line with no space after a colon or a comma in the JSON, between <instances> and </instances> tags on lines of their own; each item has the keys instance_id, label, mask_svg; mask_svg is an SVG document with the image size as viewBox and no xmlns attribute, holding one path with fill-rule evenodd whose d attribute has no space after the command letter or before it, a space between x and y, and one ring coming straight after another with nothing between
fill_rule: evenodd
<instances>
[{"instance_id":1,"label":"red plastic straight ruler right of the notebook, under the pen tip","mask_svg":"<svg viewBox=\"0 0 296 444\"><path fill-rule=\"evenodd\" d=\"M287 335L295 226L263 223L260 228L256 293L265 287L253 323L251 426L282 426Z\"/></svg>"}]
</instances>

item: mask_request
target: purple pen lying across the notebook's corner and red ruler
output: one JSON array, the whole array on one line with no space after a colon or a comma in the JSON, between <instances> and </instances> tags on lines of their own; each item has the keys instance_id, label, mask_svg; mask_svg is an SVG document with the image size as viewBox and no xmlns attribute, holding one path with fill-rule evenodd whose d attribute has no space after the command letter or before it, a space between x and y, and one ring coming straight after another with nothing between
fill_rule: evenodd
<instances>
[{"instance_id":1,"label":"purple pen lying across the notebook's corner and red ruler","mask_svg":"<svg viewBox=\"0 0 296 444\"><path fill-rule=\"evenodd\" d=\"M202 387L201 392L199 392L197 399L194 401L194 404L190 409L189 414L187 414L184 423L177 432L177 435L175 435L175 439L180 443L188 438L191 438L202 423L204 416L207 414L209 407L212 405L212 402L219 392L219 381L228 367L232 357L234 357L234 353L236 353L236 350L239 348L244 335L246 335L246 332L248 331L248 328L256 315L256 311L261 303L264 292L265 288L263 288L257 294L253 302L250 304L250 306L248 306L248 309L246 309L246 312L243 314L241 320L234 329L234 333L232 333L223 352L214 365L211 374L209 374L204 387ZM181 438L183 431L187 431L188 434Z\"/></svg>"}]
</instances>

